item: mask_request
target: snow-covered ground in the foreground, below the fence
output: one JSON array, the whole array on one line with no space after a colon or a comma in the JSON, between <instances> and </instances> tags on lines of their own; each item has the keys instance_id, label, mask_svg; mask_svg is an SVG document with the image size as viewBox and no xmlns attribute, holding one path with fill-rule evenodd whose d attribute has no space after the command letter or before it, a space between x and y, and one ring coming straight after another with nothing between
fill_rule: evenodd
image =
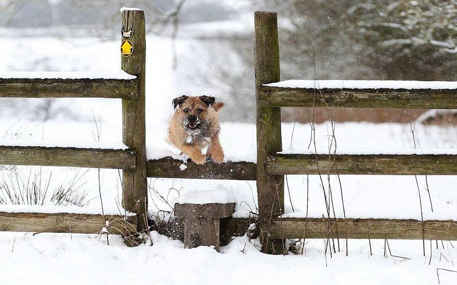
<instances>
[{"instance_id":1,"label":"snow-covered ground in the foreground, below the fence","mask_svg":"<svg viewBox=\"0 0 457 285\"><path fill-rule=\"evenodd\" d=\"M0 283L435 285L437 268L456 269L451 258L457 250L449 242L444 249L434 243L428 265L428 242L424 257L421 241L389 241L391 255L401 257L390 256L388 250L384 257L384 241L371 241L370 256L368 241L349 240L348 256L342 247L325 258L321 240L307 241L306 255L278 256L259 252L258 241L249 243L245 236L222 247L221 253L210 247L183 249L180 241L156 232L154 246L128 248L118 236L110 239L107 246L83 234L0 233ZM438 271L441 284L455 284L457 273Z\"/></svg>"}]
</instances>

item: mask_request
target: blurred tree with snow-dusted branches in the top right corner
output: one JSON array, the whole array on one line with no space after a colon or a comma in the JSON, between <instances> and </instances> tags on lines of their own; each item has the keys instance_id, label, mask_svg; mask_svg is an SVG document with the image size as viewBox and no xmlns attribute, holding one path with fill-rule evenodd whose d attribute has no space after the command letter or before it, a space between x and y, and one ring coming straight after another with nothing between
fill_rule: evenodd
<instances>
[{"instance_id":1,"label":"blurred tree with snow-dusted branches in the top right corner","mask_svg":"<svg viewBox=\"0 0 457 285\"><path fill-rule=\"evenodd\" d=\"M379 66L389 79L455 79L457 1L365 0L348 12L367 46L364 64Z\"/></svg>"}]
</instances>

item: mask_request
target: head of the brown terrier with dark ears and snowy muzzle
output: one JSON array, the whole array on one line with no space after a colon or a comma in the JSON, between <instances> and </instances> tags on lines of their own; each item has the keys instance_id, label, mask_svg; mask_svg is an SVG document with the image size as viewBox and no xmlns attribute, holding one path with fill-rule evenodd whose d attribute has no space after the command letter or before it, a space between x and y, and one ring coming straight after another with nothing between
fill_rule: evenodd
<instances>
[{"instance_id":1,"label":"head of the brown terrier with dark ears and snowy muzzle","mask_svg":"<svg viewBox=\"0 0 457 285\"><path fill-rule=\"evenodd\" d=\"M186 131L198 131L205 128L208 116L220 110L223 103L215 103L216 98L211 96L181 96L173 99L175 114L180 118Z\"/></svg>"}]
</instances>

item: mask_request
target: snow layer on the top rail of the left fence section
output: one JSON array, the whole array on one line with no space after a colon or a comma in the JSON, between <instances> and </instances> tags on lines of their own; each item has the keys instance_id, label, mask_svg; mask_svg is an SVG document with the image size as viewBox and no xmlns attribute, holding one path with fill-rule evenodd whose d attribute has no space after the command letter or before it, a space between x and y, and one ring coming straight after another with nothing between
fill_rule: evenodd
<instances>
[{"instance_id":1,"label":"snow layer on the top rail of the left fence section","mask_svg":"<svg viewBox=\"0 0 457 285\"><path fill-rule=\"evenodd\" d=\"M137 78L123 70L107 70L94 72L0 72L0 79L118 79L131 80Z\"/></svg>"}]
</instances>

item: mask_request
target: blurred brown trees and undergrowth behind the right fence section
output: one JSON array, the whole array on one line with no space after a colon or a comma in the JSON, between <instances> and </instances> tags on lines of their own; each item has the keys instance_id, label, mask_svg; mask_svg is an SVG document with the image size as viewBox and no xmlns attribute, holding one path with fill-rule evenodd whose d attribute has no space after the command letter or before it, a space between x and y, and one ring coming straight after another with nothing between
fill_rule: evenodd
<instances>
[{"instance_id":1,"label":"blurred brown trees and undergrowth behind the right fence section","mask_svg":"<svg viewBox=\"0 0 457 285\"><path fill-rule=\"evenodd\" d=\"M457 1L251 0L254 10L278 11L281 79L454 80ZM247 62L248 63L248 62ZM286 109L283 120L295 120ZM413 117L423 110L413 110ZM309 122L301 108L298 121ZM317 110L316 122L328 121ZM409 122L401 110L341 109L338 120Z\"/></svg>"}]
</instances>

